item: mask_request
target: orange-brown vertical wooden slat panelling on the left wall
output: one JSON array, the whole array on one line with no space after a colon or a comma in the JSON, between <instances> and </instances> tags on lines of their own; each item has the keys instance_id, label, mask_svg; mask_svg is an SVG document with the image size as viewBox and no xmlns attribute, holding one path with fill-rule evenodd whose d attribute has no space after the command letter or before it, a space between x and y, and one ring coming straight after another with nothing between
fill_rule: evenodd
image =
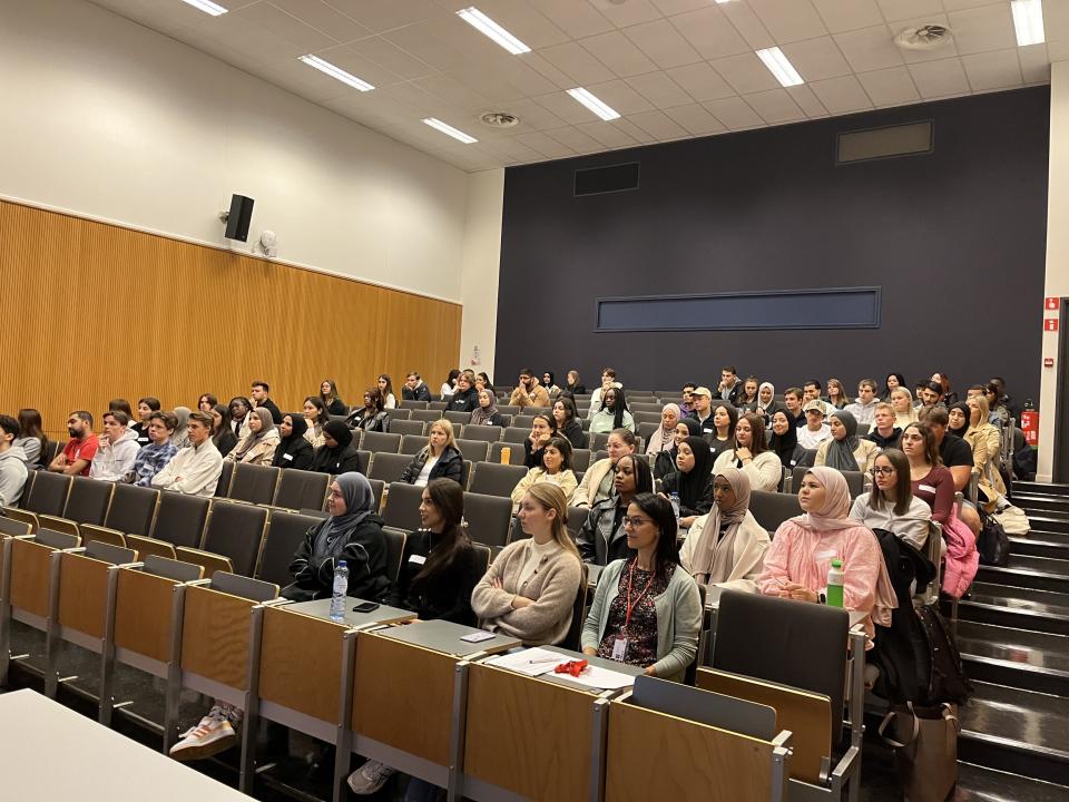
<instances>
[{"instance_id":1,"label":"orange-brown vertical wooden slat panelling on the left wall","mask_svg":"<svg viewBox=\"0 0 1069 802\"><path fill-rule=\"evenodd\" d=\"M112 398L195 408L257 379L283 411L325 378L350 404L380 372L400 395L460 351L459 304L2 200L0 276L0 411L36 407L55 437Z\"/></svg>"}]
</instances>

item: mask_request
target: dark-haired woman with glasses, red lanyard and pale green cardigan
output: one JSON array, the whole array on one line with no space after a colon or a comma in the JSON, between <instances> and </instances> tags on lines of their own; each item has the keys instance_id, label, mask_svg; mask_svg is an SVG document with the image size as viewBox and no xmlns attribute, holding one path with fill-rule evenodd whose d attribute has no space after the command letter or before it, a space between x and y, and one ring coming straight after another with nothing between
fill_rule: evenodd
<instances>
[{"instance_id":1,"label":"dark-haired woman with glasses, red lanyard and pale green cardigan","mask_svg":"<svg viewBox=\"0 0 1069 802\"><path fill-rule=\"evenodd\" d=\"M676 517L665 499L640 493L625 520L634 554L601 573L582 626L583 654L683 682L698 653L704 610L698 586L679 566Z\"/></svg>"}]
</instances>

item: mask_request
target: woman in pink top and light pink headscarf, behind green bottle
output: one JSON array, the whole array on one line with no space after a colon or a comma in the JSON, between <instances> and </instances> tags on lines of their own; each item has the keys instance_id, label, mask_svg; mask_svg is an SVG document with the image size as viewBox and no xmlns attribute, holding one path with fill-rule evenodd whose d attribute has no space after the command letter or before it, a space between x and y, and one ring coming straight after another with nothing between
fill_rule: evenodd
<instances>
[{"instance_id":1,"label":"woman in pink top and light pink headscarf, behind green bottle","mask_svg":"<svg viewBox=\"0 0 1069 802\"><path fill-rule=\"evenodd\" d=\"M850 488L834 468L811 468L802 479L798 503L804 510L776 529L765 552L757 589L766 596L820 603L826 594L833 559L843 561L843 607L865 615L872 644L874 624L889 626L898 599L872 530L849 520Z\"/></svg>"}]
</instances>

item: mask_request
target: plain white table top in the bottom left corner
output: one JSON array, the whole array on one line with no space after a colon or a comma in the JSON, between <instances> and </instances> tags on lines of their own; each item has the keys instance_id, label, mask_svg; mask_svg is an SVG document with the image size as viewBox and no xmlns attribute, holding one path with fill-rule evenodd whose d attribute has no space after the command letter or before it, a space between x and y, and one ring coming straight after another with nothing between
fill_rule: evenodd
<instances>
[{"instance_id":1,"label":"plain white table top in the bottom left corner","mask_svg":"<svg viewBox=\"0 0 1069 802\"><path fill-rule=\"evenodd\" d=\"M0 694L0 799L248 802L33 691Z\"/></svg>"}]
</instances>

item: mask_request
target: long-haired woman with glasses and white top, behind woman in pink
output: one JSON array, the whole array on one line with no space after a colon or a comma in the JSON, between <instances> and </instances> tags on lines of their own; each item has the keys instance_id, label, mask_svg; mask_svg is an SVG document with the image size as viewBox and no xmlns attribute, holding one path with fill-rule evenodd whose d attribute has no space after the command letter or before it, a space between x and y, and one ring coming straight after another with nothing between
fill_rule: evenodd
<instances>
[{"instance_id":1,"label":"long-haired woman with glasses and white top, behind woman in pink","mask_svg":"<svg viewBox=\"0 0 1069 802\"><path fill-rule=\"evenodd\" d=\"M898 449L876 457L873 487L854 499L850 517L870 529L886 529L919 551L924 550L932 509L913 496L910 461Z\"/></svg>"}]
</instances>

